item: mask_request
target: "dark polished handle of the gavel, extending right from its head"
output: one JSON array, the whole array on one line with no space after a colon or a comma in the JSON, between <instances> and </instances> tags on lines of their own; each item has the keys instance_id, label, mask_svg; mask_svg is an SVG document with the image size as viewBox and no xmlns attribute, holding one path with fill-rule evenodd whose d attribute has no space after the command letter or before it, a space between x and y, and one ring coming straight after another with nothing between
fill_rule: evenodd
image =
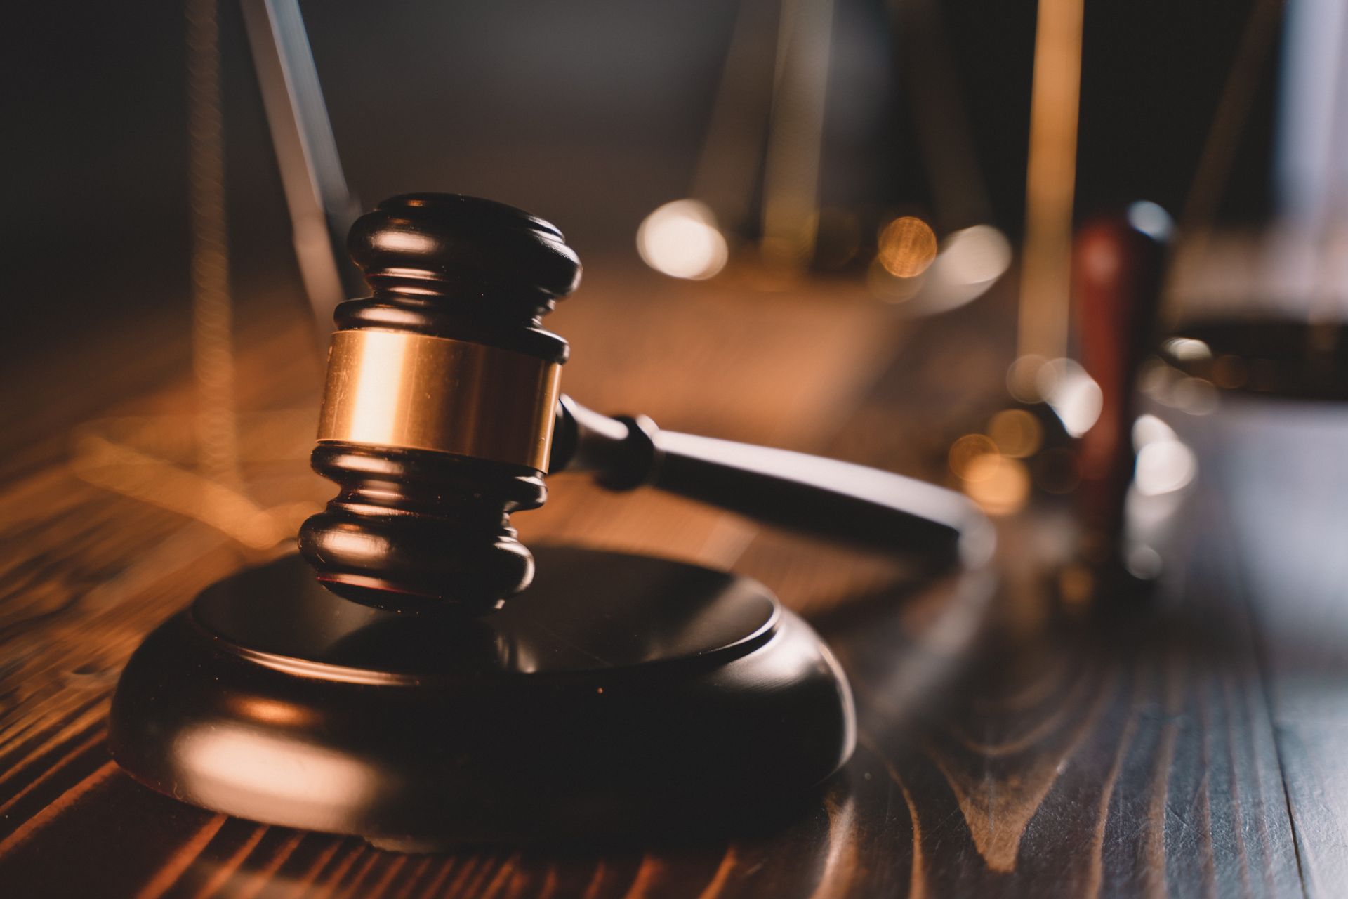
<instances>
[{"instance_id":1,"label":"dark polished handle of the gavel, extending right from its head","mask_svg":"<svg viewBox=\"0 0 1348 899\"><path fill-rule=\"evenodd\" d=\"M663 431L558 402L550 473L589 472L616 491L643 484L833 542L976 567L991 523L964 496L864 465Z\"/></svg>"}]
</instances>

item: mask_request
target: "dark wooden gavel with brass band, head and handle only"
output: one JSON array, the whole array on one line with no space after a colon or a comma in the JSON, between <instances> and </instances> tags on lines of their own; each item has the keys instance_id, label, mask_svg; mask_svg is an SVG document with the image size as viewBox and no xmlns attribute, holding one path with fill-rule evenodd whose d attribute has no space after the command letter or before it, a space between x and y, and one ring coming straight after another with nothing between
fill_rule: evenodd
<instances>
[{"instance_id":1,"label":"dark wooden gavel with brass band, head and handle only","mask_svg":"<svg viewBox=\"0 0 1348 899\"><path fill-rule=\"evenodd\" d=\"M341 303L313 465L341 492L299 547L344 597L402 611L491 611L526 588L512 512L545 473L643 484L834 540L981 563L992 545L962 496L845 462L662 431L559 394L565 340L542 317L581 266L550 224L452 194L395 197L350 252L373 295Z\"/></svg>"}]
</instances>

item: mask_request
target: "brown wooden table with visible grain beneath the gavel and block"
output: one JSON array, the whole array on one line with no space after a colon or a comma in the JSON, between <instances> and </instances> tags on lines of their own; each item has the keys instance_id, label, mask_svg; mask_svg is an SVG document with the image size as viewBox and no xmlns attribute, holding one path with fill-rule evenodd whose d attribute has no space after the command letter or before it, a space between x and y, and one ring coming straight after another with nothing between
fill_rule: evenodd
<instances>
[{"instance_id":1,"label":"brown wooden table with visible grain beneath the gavel and block","mask_svg":"<svg viewBox=\"0 0 1348 899\"><path fill-rule=\"evenodd\" d=\"M763 292L590 272L553 326L573 342L568 390L597 408L946 480L950 441L999 402L1000 292L905 323L845 284ZM0 895L1348 890L1348 550L1333 470L1348 441L1329 406L1197 422L1217 461L1202 457L1171 582L1126 608L1054 598L1039 561L1055 519L1043 512L1000 522L1000 584L914 586L890 559L558 480L545 509L516 519L526 542L733 565L837 651L860 745L774 833L395 855L132 783L105 745L120 666L202 586L274 555L276 534L332 491L305 465L321 365L301 306L262 298L245 310L240 480L225 493L195 473L191 384L162 361L181 360L181 345L137 345L129 332L81 371L121 360L174 375L108 398L90 422L86 402L66 399L80 372L58 360L40 379L44 408L71 414L49 414L0 466Z\"/></svg>"}]
</instances>

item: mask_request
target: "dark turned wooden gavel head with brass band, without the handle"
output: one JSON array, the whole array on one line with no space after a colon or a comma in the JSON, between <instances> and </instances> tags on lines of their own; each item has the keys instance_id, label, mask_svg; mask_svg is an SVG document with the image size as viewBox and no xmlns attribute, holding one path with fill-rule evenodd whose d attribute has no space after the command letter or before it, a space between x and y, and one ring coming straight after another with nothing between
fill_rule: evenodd
<instances>
[{"instance_id":1,"label":"dark turned wooden gavel head with brass band, without the handle","mask_svg":"<svg viewBox=\"0 0 1348 899\"><path fill-rule=\"evenodd\" d=\"M546 499L574 290L562 233L473 197L406 194L356 221L373 295L338 305L313 466L341 492L299 549L332 590L400 611L497 608L534 559L511 512Z\"/></svg>"}]
</instances>

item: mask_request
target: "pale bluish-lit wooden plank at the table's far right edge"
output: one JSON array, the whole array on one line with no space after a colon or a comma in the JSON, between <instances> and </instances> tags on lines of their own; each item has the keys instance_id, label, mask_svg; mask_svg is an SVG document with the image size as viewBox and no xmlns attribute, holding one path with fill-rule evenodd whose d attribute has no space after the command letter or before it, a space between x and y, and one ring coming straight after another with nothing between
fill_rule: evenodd
<instances>
[{"instance_id":1,"label":"pale bluish-lit wooden plank at the table's far right edge","mask_svg":"<svg viewBox=\"0 0 1348 899\"><path fill-rule=\"evenodd\" d=\"M1258 623L1306 894L1348 880L1348 412L1244 399L1189 422L1224 577Z\"/></svg>"}]
</instances>

